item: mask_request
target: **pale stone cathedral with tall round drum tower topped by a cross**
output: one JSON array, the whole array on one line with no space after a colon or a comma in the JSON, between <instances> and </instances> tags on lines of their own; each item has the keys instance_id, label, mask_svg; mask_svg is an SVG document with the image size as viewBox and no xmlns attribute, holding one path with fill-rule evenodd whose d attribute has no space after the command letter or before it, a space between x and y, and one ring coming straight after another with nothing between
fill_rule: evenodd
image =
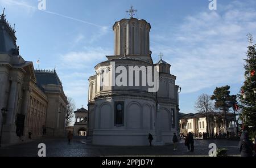
<instances>
[{"instance_id":1,"label":"pale stone cathedral with tall round drum tower topped by a cross","mask_svg":"<svg viewBox=\"0 0 256 168\"><path fill-rule=\"evenodd\" d=\"M143 146L151 133L153 145L172 143L179 133L180 87L169 63L162 57L152 61L150 23L133 18L133 8L129 12L130 19L113 25L114 55L89 77L88 139L95 145Z\"/></svg>"}]
</instances>

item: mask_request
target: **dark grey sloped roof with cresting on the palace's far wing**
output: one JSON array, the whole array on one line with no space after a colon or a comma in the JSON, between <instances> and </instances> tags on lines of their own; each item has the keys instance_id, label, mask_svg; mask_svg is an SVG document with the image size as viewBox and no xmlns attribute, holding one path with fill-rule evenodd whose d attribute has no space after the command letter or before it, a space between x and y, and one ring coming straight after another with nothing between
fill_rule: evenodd
<instances>
[{"instance_id":1,"label":"dark grey sloped roof with cresting on the palace's far wing","mask_svg":"<svg viewBox=\"0 0 256 168\"><path fill-rule=\"evenodd\" d=\"M61 81L56 71L39 71L35 70L36 81L39 86L47 84L61 85Z\"/></svg>"}]
</instances>

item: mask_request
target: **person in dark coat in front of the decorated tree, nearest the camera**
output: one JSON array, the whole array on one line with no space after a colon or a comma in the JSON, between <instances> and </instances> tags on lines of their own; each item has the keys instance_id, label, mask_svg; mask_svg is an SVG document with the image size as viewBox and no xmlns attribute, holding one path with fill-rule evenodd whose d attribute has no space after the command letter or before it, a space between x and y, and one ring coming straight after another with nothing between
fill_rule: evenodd
<instances>
[{"instance_id":1,"label":"person in dark coat in front of the decorated tree, nearest the camera","mask_svg":"<svg viewBox=\"0 0 256 168\"><path fill-rule=\"evenodd\" d=\"M240 137L239 148L242 157L253 156L253 143L249 140L249 133L243 131Z\"/></svg>"}]
</instances>

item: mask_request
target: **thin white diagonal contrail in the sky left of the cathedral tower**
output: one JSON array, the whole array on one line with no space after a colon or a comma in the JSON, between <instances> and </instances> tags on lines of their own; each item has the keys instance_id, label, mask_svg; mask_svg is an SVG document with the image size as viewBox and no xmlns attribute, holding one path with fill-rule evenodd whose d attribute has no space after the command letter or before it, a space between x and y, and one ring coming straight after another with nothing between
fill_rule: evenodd
<instances>
[{"instance_id":1,"label":"thin white diagonal contrail in the sky left of the cathedral tower","mask_svg":"<svg viewBox=\"0 0 256 168\"><path fill-rule=\"evenodd\" d=\"M5 1L13 3L14 5L20 5L20 6L24 6L24 7L28 7L28 8L33 8L35 10L39 10L37 7L31 6L31 5L27 5L27 4L22 3L22 2L15 2L15 1L11 1L11 0L5 0ZM67 19L71 19L71 20L75 20L75 21L80 21L81 23L90 24L90 25L93 25L93 26L96 26L96 27L100 27L100 28L104 28L104 29L107 28L106 26L90 23L88 21L72 18L72 17L66 16L66 15L57 14L56 12L51 12L51 11L47 11L47 10L39 10L39 11L46 12L48 14L53 14L53 15L61 16L63 18L67 18Z\"/></svg>"}]
</instances>

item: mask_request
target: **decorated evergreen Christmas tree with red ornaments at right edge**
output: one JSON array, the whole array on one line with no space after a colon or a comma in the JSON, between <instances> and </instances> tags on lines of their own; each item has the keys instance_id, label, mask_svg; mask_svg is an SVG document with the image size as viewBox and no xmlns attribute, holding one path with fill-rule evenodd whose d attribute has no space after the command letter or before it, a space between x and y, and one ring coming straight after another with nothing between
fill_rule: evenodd
<instances>
[{"instance_id":1,"label":"decorated evergreen Christmas tree with red ornaments at right edge","mask_svg":"<svg viewBox=\"0 0 256 168\"><path fill-rule=\"evenodd\" d=\"M251 136L256 136L256 45L253 45L253 38L250 34L247 59L245 59L245 82L238 94L242 103L243 124L249 127Z\"/></svg>"}]
</instances>

